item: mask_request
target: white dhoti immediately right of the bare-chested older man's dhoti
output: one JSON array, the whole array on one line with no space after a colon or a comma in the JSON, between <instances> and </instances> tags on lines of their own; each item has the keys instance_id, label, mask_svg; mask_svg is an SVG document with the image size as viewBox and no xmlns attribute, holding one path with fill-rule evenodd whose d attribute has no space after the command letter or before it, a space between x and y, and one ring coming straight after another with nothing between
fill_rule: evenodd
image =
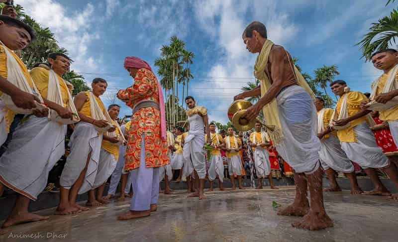
<instances>
[{"instance_id":1,"label":"white dhoti immediately right of the bare-chested older man's dhoti","mask_svg":"<svg viewBox=\"0 0 398 242\"><path fill-rule=\"evenodd\" d=\"M333 134L320 141L319 159L323 169L332 168L338 172L351 173L354 165L341 148L340 140Z\"/></svg>"}]
</instances>

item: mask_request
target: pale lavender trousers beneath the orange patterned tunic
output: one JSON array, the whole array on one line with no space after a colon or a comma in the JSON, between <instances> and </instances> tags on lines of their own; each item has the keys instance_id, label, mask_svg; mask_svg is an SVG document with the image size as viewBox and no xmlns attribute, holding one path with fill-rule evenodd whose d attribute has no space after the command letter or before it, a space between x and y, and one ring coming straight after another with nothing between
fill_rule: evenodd
<instances>
[{"instance_id":1,"label":"pale lavender trousers beneath the orange patterned tunic","mask_svg":"<svg viewBox=\"0 0 398 242\"><path fill-rule=\"evenodd\" d=\"M141 139L140 167L131 171L133 197L130 210L149 210L151 204L157 204L159 200L159 167L148 168L145 166L145 142Z\"/></svg>"}]
</instances>

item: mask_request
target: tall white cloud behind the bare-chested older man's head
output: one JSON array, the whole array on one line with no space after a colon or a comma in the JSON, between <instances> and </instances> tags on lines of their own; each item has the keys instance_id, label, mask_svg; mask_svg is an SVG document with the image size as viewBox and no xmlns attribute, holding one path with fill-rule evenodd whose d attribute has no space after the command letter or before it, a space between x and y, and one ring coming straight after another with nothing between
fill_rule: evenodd
<instances>
[{"instance_id":1,"label":"tall white cloud behind the bare-chested older man's head","mask_svg":"<svg viewBox=\"0 0 398 242\"><path fill-rule=\"evenodd\" d=\"M215 82L195 82L192 85L192 93L203 99L214 99L213 97L221 99L206 102L209 119L226 123L228 121L226 110L232 103L233 96L238 94L239 89L248 81L254 81L253 65L256 56L246 50L242 41L242 32L250 23L245 20L247 14L252 14L253 20L265 23L269 38L277 44L292 39L298 31L298 26L289 22L287 13L277 11L277 1L274 0L255 1L254 4L239 0L204 2L198 0L194 5L201 28L216 43L215 49L219 52L219 59L215 60L207 75ZM212 77L235 77L235 79L212 79ZM209 88L209 84L211 89L206 89Z\"/></svg>"}]
</instances>

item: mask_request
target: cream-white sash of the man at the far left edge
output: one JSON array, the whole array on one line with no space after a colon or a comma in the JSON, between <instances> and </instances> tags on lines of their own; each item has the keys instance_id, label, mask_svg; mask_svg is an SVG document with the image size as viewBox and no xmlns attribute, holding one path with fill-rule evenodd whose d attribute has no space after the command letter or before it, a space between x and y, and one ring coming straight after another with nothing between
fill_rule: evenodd
<instances>
[{"instance_id":1,"label":"cream-white sash of the man at the far left edge","mask_svg":"<svg viewBox=\"0 0 398 242\"><path fill-rule=\"evenodd\" d=\"M30 86L25 78L25 75L23 75L22 70L20 69L19 64L16 61L15 57L9 52L7 47L1 41L0 41L0 45L3 46L5 55L7 56L7 63L6 63L6 65L7 65L7 81L14 84L20 90L37 96L38 99L40 100L40 102L43 103L43 99L42 99L39 91L37 90L36 85L34 84L33 80L31 80L32 88L30 88ZM5 93L3 93L0 98L4 103L4 106L16 114L27 114L28 115L28 114L32 114L33 110L46 109L46 107L44 105L39 104L36 101L35 101L36 108L34 108L34 109L18 108L15 106L14 102L12 102L11 97Z\"/></svg>"}]
</instances>

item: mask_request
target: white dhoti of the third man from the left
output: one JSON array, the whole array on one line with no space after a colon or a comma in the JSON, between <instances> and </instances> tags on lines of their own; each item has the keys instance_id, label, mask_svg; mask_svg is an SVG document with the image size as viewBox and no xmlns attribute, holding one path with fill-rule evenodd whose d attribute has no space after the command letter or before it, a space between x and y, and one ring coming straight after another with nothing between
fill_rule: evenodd
<instances>
[{"instance_id":1,"label":"white dhoti of the third man from the left","mask_svg":"<svg viewBox=\"0 0 398 242\"><path fill-rule=\"evenodd\" d=\"M87 158L91 152L89 165L79 194L90 191L96 180L98 163L100 160L102 134L99 134L93 124L79 122L69 141L71 153L66 159L64 170L60 178L60 185L70 189L75 184L80 173L86 167Z\"/></svg>"}]
</instances>

